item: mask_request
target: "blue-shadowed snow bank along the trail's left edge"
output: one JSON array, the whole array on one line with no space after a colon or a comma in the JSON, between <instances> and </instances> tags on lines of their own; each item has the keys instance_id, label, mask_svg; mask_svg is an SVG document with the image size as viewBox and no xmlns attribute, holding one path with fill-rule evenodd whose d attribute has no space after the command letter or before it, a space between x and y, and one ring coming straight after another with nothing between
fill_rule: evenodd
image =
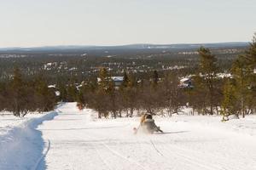
<instances>
[{"instance_id":1,"label":"blue-shadowed snow bank along the trail's left edge","mask_svg":"<svg viewBox=\"0 0 256 170\"><path fill-rule=\"evenodd\" d=\"M33 169L38 160L44 155L44 139L37 130L44 121L52 120L57 111L49 112L37 118L27 120L12 127L0 136L0 169ZM44 160L40 162L44 167Z\"/></svg>"}]
</instances>

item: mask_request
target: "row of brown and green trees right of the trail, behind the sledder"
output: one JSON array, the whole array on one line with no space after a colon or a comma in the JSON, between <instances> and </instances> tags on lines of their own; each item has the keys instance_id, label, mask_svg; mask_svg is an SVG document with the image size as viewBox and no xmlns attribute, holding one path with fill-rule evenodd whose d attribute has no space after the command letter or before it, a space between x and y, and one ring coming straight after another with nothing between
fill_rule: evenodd
<instances>
[{"instance_id":1,"label":"row of brown and green trees right of the trail, behind the sledder","mask_svg":"<svg viewBox=\"0 0 256 170\"><path fill-rule=\"evenodd\" d=\"M198 114L245 116L256 107L256 37L250 47L235 59L231 77L218 77L218 58L210 49L198 49L199 63L192 77L193 87L180 88L178 71L167 71L162 77L154 71L149 79L138 79L124 73L119 88L114 86L106 68L99 72L99 81L87 81L77 92L79 107L98 111L98 117L133 116L134 111L172 116L183 106Z\"/></svg>"}]
</instances>

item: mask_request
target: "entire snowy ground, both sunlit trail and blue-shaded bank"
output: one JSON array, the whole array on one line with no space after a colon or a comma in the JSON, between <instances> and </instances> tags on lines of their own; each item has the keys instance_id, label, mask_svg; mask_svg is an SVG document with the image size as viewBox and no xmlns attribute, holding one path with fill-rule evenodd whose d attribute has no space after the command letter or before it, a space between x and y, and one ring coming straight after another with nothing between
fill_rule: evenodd
<instances>
[{"instance_id":1,"label":"entire snowy ground, both sunlit trail and blue-shaded bank","mask_svg":"<svg viewBox=\"0 0 256 170\"><path fill-rule=\"evenodd\" d=\"M154 119L165 133L134 134L139 117L99 120L67 103L0 134L0 169L256 169L256 116Z\"/></svg>"}]
</instances>

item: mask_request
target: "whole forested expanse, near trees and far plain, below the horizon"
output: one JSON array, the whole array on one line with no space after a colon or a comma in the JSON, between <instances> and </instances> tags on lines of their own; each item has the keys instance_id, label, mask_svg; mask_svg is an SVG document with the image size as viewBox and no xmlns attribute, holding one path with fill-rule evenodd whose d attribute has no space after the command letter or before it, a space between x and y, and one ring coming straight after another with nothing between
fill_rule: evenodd
<instances>
[{"instance_id":1,"label":"whole forested expanse, near trees and far plain, below the horizon","mask_svg":"<svg viewBox=\"0 0 256 170\"><path fill-rule=\"evenodd\" d=\"M226 121L255 113L255 60L255 37L248 45L212 48L2 51L0 110L24 116L77 101L99 118L134 111L172 116L190 107L191 115L218 114ZM123 77L119 87L111 78L116 76ZM191 86L180 86L184 77Z\"/></svg>"}]
</instances>

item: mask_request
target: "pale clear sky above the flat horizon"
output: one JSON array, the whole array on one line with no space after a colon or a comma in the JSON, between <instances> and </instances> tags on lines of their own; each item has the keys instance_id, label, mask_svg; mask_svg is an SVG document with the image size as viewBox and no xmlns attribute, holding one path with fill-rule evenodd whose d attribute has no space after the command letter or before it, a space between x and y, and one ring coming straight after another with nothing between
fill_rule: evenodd
<instances>
[{"instance_id":1,"label":"pale clear sky above the flat horizon","mask_svg":"<svg viewBox=\"0 0 256 170\"><path fill-rule=\"evenodd\" d=\"M0 0L0 48L249 42L256 0Z\"/></svg>"}]
</instances>

